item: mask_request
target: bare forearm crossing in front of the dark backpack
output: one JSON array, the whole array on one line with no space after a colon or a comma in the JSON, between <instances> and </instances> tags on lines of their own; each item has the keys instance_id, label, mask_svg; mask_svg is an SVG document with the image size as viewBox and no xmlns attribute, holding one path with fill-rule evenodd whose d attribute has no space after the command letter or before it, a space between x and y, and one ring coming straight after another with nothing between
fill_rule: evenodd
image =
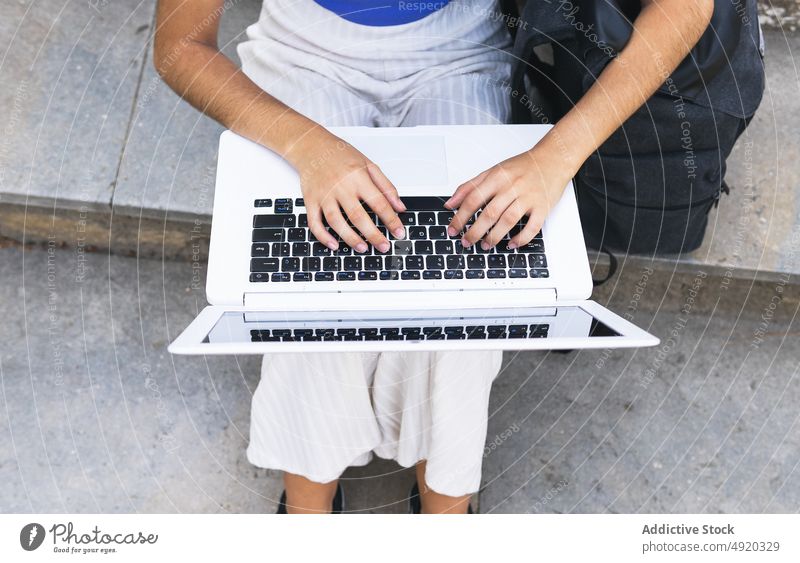
<instances>
[{"instance_id":1,"label":"bare forearm crossing in front of the dark backpack","mask_svg":"<svg viewBox=\"0 0 800 563\"><path fill-rule=\"evenodd\" d=\"M628 44L539 145L576 173L686 57L712 10L712 0L646 2Z\"/></svg>"}]
</instances>

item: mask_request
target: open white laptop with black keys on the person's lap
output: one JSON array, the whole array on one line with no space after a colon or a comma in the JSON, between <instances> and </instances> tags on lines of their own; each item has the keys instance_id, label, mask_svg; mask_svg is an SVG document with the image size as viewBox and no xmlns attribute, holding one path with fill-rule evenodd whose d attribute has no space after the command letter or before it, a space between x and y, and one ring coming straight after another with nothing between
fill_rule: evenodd
<instances>
[{"instance_id":1,"label":"open white laptop with black keys on the person's lap","mask_svg":"<svg viewBox=\"0 0 800 563\"><path fill-rule=\"evenodd\" d=\"M381 167L407 207L400 214L406 237L395 239L384 231L389 251L370 246L364 254L343 242L331 251L316 241L294 169L262 146L224 132L206 280L209 306L169 351L549 350L658 344L656 337L589 299L589 260L571 186L541 232L524 247L508 249L507 238L489 251L480 245L463 248L460 237L447 235L453 213L443 202L455 188L529 149L548 129L332 128Z\"/></svg>"}]
</instances>

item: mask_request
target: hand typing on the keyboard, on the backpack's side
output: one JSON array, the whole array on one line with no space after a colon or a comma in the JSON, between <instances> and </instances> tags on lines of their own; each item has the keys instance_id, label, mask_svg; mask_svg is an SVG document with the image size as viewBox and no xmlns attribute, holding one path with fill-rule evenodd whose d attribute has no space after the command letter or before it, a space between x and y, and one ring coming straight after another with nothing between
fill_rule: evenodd
<instances>
[{"instance_id":1,"label":"hand typing on the keyboard, on the backpack's side","mask_svg":"<svg viewBox=\"0 0 800 563\"><path fill-rule=\"evenodd\" d=\"M558 158L537 152L536 147L504 160L461 184L445 202L445 207L458 209L448 234L464 231L469 219L483 208L462 236L465 247L482 240L481 246L489 249L527 216L525 226L508 243L509 248L524 246L541 230L572 176L573 171Z\"/></svg>"}]
</instances>

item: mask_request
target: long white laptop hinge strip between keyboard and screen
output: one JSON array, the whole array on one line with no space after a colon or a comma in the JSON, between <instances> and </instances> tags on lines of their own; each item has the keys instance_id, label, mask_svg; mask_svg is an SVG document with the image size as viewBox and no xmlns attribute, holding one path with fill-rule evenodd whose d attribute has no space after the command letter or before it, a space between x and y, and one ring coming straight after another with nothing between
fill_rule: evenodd
<instances>
[{"instance_id":1,"label":"long white laptop hinge strip between keyboard and screen","mask_svg":"<svg viewBox=\"0 0 800 563\"><path fill-rule=\"evenodd\" d=\"M399 311L539 307L556 304L554 288L245 293L244 305L259 311Z\"/></svg>"}]
</instances>

